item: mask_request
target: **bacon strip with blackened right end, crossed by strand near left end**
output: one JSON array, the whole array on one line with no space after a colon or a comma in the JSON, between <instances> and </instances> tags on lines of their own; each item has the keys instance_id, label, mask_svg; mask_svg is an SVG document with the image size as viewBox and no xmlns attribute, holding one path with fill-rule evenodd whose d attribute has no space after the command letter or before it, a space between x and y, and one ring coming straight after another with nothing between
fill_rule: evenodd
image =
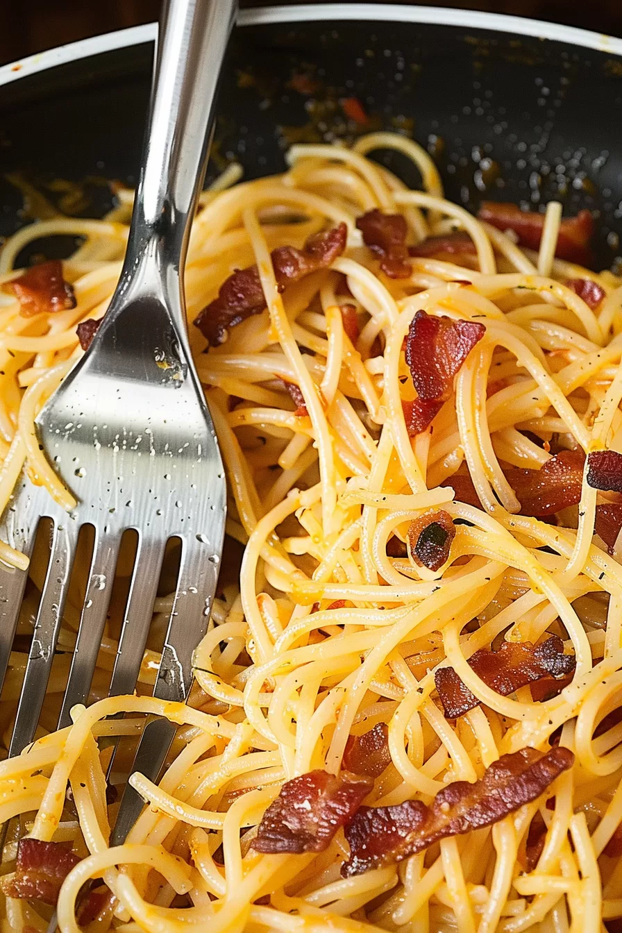
<instances>
[{"instance_id":1,"label":"bacon strip with blackened right end, crossed by strand near left end","mask_svg":"<svg viewBox=\"0 0 622 933\"><path fill-rule=\"evenodd\" d=\"M506 697L541 677L572 674L576 661L574 655L563 653L560 637L551 635L535 648L532 642L503 642L498 651L480 648L468 663L487 687ZM457 719L479 703L452 667L436 671L435 685L447 719Z\"/></svg>"}]
</instances>

